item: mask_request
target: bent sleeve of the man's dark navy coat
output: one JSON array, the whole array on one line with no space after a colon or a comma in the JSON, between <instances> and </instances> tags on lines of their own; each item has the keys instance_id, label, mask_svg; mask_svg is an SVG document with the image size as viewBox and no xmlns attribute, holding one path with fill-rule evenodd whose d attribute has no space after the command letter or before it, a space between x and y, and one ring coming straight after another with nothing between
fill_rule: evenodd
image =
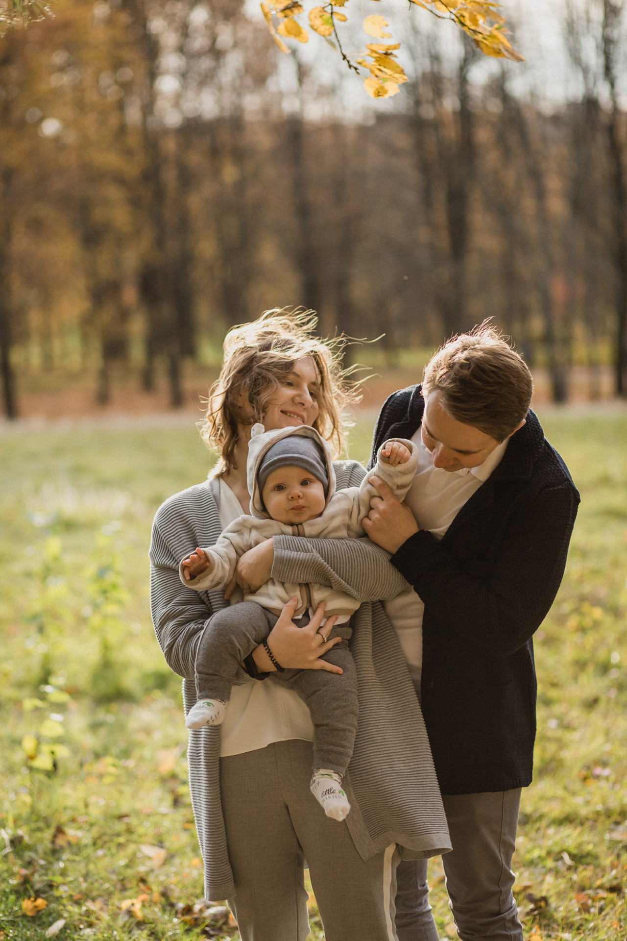
<instances>
[{"instance_id":1,"label":"bent sleeve of the man's dark navy coat","mask_svg":"<svg viewBox=\"0 0 627 941\"><path fill-rule=\"evenodd\" d=\"M551 607L564 574L577 509L576 491L557 486L512 513L490 563L456 558L446 539L421 530L392 556L436 613L434 630L494 656L525 645Z\"/></svg>"}]
</instances>

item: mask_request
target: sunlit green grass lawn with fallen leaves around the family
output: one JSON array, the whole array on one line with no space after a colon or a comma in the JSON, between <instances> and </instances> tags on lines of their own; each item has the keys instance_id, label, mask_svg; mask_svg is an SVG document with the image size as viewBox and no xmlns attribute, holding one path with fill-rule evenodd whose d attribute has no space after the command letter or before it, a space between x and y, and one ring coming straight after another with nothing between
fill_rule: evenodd
<instances>
[{"instance_id":1,"label":"sunlit green grass lawn with fallen leaves around the family","mask_svg":"<svg viewBox=\"0 0 627 941\"><path fill-rule=\"evenodd\" d=\"M514 868L527 936L600 941L627 936L627 412L544 418L583 502L537 635L536 772ZM370 433L353 429L353 456ZM158 426L10 432L0 451L0 939L43 938L60 918L61 939L206 937L147 549L154 510L205 476L207 452L193 427ZM453 936L439 860L431 884ZM28 917L29 898L47 906ZM321 938L313 901L312 917Z\"/></svg>"}]
</instances>

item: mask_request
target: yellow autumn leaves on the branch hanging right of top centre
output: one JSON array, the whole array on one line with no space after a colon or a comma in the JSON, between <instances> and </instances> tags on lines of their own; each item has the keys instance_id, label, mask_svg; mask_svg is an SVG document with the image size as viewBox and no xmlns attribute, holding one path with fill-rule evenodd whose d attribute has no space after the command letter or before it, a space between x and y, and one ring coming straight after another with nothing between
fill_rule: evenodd
<instances>
[{"instance_id":1,"label":"yellow autumn leaves on the branch hanging right of top centre","mask_svg":"<svg viewBox=\"0 0 627 941\"><path fill-rule=\"evenodd\" d=\"M440 20L448 20L459 26L475 43L485 56L507 58L514 62L523 61L523 56L516 52L509 41L509 32L505 17L500 12L500 4L493 0L409 0L410 5L421 7ZM321 7L309 10L307 19L310 28L329 42L337 50L344 62L353 72L363 76L364 88L372 98L389 98L396 95L399 86L408 78L397 61L396 51L400 42L367 42L366 49L358 53L346 53L337 32L337 23L346 23L348 17L337 8L346 6L347 0L335 0ZM290 54L285 39L308 42L309 33L296 17L305 12L300 0L268 0L261 3L261 10L266 19L274 41L283 53ZM275 22L278 24L275 25ZM364 31L373 39L391 40L391 33L386 33L387 20L378 14L367 16L363 22ZM334 38L334 40L331 39Z\"/></svg>"}]
</instances>

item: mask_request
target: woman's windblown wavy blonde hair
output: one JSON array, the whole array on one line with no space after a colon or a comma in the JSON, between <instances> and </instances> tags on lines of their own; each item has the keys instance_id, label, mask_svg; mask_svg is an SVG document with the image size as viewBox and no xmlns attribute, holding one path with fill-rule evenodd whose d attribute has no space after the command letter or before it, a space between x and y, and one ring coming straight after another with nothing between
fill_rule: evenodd
<instances>
[{"instance_id":1,"label":"woman's windblown wavy blonde hair","mask_svg":"<svg viewBox=\"0 0 627 941\"><path fill-rule=\"evenodd\" d=\"M220 452L215 475L237 469L235 447L240 426L263 421L274 391L290 374L294 362L306 357L313 359L320 375L319 412L313 427L336 455L340 453L346 429L341 412L356 402L358 395L347 384L350 371L342 369L344 341L321 340L314 333L317 324L314 311L275 308L228 331L222 370L209 392L207 413L200 424L201 438Z\"/></svg>"}]
</instances>

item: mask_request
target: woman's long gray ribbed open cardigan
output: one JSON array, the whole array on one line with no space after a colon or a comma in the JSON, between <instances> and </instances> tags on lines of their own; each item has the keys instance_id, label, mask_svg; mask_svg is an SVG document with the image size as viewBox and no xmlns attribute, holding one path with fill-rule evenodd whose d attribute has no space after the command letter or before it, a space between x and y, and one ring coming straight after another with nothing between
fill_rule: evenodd
<instances>
[{"instance_id":1,"label":"woman's long gray ribbed open cardigan","mask_svg":"<svg viewBox=\"0 0 627 941\"><path fill-rule=\"evenodd\" d=\"M365 470L337 461L337 488L359 486ZM165 660L183 678L185 712L196 701L196 647L207 619L226 606L222 592L198 594L180 582L180 559L211 546L222 531L210 481L191 486L159 508L150 543L150 607ZM318 551L308 551L315 545ZM403 858L450 849L447 821L431 749L414 687L379 599L406 582L389 556L368 539L274 539L273 578L329 584L363 598L353 614L351 650L357 668L359 724L345 787L352 804L347 824L363 859L397 843ZM251 681L241 671L237 681ZM189 777L205 864L205 896L232 898L233 875L220 803L220 726L190 730Z\"/></svg>"}]
</instances>

